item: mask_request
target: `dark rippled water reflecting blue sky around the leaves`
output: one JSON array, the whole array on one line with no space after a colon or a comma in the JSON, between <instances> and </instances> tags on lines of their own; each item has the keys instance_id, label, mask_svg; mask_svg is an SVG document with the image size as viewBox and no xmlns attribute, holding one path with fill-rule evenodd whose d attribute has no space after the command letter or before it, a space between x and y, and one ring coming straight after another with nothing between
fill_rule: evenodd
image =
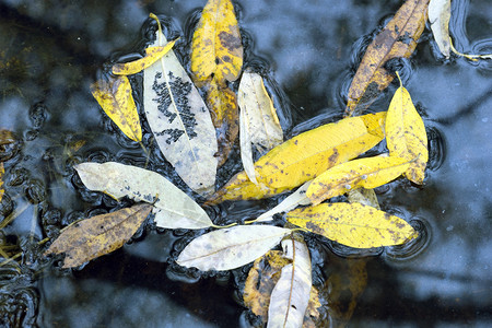
<instances>
[{"instance_id":1,"label":"dark rippled water reflecting blue sky around the leaves","mask_svg":"<svg viewBox=\"0 0 492 328\"><path fill-rule=\"evenodd\" d=\"M174 258L196 234L145 225L122 249L72 271L39 258L37 242L79 218L117 204L81 187L71 165L118 161L143 165L139 145L114 128L89 85L105 62L140 50L150 12L171 17L184 35L203 1L0 1L0 128L7 196L2 244L23 250L22 266L0 268L0 323L39 327L236 327L248 315L236 302L244 270L183 270ZM250 59L259 60L291 133L341 116L343 96L364 45L401 1L237 1ZM458 50L492 52L492 3L453 1ZM195 15L196 16L196 15ZM377 250L367 261L367 286L350 327L492 326L492 62L445 61L424 32L405 62L405 84L424 116L431 169L423 188L402 181L377 190L383 209L398 213L423 237L409 249ZM183 45L186 49L186 43ZM273 82L277 81L277 82ZM391 85L374 108L386 108ZM289 116L289 115L288 115ZM148 137L149 138L149 137ZM159 150L153 169L176 180ZM221 175L238 169L230 163ZM276 200L208 209L221 223L255 218ZM350 270L332 253L313 247L315 282ZM317 248L316 248L317 247ZM13 254L15 249L12 250ZM350 298L350 297L349 297Z\"/></svg>"}]
</instances>

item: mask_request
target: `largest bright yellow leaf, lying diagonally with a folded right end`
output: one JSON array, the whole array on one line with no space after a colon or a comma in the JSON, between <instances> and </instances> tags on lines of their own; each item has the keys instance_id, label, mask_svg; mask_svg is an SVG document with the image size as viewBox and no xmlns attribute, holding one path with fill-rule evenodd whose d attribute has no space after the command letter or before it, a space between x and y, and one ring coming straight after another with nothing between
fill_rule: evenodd
<instances>
[{"instance_id":1,"label":"largest bright yellow leaf, lying diagonally with a folded right end","mask_svg":"<svg viewBox=\"0 0 492 328\"><path fill-rule=\"evenodd\" d=\"M386 113L377 113L344 118L301 133L255 163L258 186L239 173L209 203L259 199L301 186L376 145L384 138L385 116Z\"/></svg>"}]
</instances>

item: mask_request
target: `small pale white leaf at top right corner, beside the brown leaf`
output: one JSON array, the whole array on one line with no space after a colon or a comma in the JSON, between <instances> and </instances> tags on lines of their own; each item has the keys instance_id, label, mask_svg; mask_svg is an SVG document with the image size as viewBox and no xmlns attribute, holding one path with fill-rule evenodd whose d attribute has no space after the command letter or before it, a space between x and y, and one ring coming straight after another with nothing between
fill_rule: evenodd
<instances>
[{"instance_id":1,"label":"small pale white leaf at top right corner, beside the brown leaf","mask_svg":"<svg viewBox=\"0 0 492 328\"><path fill-rule=\"evenodd\" d=\"M450 0L431 0L429 2L429 22L431 23L432 35L441 52L449 58L449 19Z\"/></svg>"}]
</instances>

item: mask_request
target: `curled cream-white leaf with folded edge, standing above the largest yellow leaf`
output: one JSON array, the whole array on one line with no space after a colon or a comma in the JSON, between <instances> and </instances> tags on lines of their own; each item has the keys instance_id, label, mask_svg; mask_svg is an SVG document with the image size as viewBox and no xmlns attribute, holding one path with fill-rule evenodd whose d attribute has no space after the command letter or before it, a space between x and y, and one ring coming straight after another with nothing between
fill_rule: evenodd
<instances>
[{"instance_id":1,"label":"curled cream-white leaf with folded edge, standing above the largest yellow leaf","mask_svg":"<svg viewBox=\"0 0 492 328\"><path fill-rule=\"evenodd\" d=\"M249 179L257 184L253 147L261 153L282 143L283 132L277 109L265 89L261 77L245 71L241 78L237 104L239 105L241 160Z\"/></svg>"}]
</instances>

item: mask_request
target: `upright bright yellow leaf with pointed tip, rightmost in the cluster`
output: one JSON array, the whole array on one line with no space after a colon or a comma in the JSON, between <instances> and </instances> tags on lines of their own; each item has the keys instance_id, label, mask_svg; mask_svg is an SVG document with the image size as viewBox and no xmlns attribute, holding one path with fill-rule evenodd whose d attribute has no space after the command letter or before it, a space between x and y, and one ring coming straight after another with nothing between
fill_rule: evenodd
<instances>
[{"instance_id":1,"label":"upright bright yellow leaf with pointed tip, rightmost in the cluster","mask_svg":"<svg viewBox=\"0 0 492 328\"><path fill-rule=\"evenodd\" d=\"M389 104L386 116L386 142L390 156L412 161L405 176L421 185L429 160L427 134L423 120L403 86L397 89Z\"/></svg>"}]
</instances>

